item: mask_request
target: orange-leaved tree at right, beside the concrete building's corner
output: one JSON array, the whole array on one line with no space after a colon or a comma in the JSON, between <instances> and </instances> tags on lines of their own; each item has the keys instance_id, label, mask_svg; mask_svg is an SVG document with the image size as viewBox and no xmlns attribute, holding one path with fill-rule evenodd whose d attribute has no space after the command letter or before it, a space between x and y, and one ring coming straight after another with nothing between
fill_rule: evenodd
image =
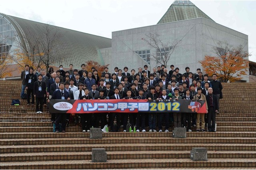
<instances>
[{"instance_id":1,"label":"orange-leaved tree at right, beside the concrete building's corner","mask_svg":"<svg viewBox=\"0 0 256 170\"><path fill-rule=\"evenodd\" d=\"M199 61L208 75L216 74L221 82L232 82L242 79L249 68L248 57L244 46L232 47L227 42L218 42L218 47L213 47L215 56L206 55Z\"/></svg>"}]
</instances>

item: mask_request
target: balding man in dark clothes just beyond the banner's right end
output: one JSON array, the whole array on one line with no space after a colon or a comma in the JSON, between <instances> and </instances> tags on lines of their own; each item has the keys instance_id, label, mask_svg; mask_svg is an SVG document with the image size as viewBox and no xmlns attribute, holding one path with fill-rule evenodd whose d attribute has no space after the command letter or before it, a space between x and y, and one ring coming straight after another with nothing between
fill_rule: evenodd
<instances>
[{"instance_id":1,"label":"balding man in dark clothes just beyond the banner's right end","mask_svg":"<svg viewBox=\"0 0 256 170\"><path fill-rule=\"evenodd\" d=\"M209 132L216 132L215 130L215 121L216 121L216 113L219 110L219 104L217 96L213 94L213 90L211 87L208 89L208 95L206 96L208 114L207 114L207 124ZM212 122L212 125L211 125Z\"/></svg>"}]
</instances>

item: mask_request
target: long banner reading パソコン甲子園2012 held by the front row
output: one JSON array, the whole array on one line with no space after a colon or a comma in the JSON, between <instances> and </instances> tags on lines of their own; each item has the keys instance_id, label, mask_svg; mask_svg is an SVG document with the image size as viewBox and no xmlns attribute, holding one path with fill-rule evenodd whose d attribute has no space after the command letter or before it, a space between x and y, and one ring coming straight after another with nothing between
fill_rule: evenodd
<instances>
[{"instance_id":1,"label":"long banner reading \u30d1\u30bd\u30b3\u30f3\u7532\u5b50\u57122012 held by the front row","mask_svg":"<svg viewBox=\"0 0 256 170\"><path fill-rule=\"evenodd\" d=\"M138 113L180 112L206 113L206 103L201 100L61 100L52 99L50 113Z\"/></svg>"}]
</instances>

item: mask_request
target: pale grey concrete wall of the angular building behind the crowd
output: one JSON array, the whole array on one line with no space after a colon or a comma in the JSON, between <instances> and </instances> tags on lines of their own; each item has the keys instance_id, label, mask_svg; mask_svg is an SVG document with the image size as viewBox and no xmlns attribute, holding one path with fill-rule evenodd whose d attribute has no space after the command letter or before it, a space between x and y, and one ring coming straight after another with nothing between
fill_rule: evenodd
<instances>
[{"instance_id":1,"label":"pale grey concrete wall of the angular building behind the crowd","mask_svg":"<svg viewBox=\"0 0 256 170\"><path fill-rule=\"evenodd\" d=\"M218 41L228 41L234 46L246 43L245 50L248 51L247 35L205 18L196 18L112 32L112 55L103 57L105 64L110 64L110 72L113 72L116 66L120 69L127 66L129 72L131 69L138 71L139 67L143 67L146 62L134 51L150 49L151 54L156 54L156 49L151 48L142 40L150 32L157 32L163 42L182 40L168 61L168 71L170 65L173 64L179 67L180 73L184 73L187 66L190 67L190 71L196 73L197 68L202 69L198 61L202 60L206 54L211 55L210 50ZM151 59L148 69L152 71L153 67L158 65ZM249 77L245 77L244 80L248 82Z\"/></svg>"}]
</instances>

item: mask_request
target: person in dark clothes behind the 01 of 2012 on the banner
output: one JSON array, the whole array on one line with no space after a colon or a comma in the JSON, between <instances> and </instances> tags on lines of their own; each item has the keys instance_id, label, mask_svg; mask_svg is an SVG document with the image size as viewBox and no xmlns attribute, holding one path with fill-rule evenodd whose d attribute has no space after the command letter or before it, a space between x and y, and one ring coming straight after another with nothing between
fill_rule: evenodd
<instances>
[{"instance_id":1,"label":"person in dark clothes behind the 01 of 2012 on the banner","mask_svg":"<svg viewBox=\"0 0 256 170\"><path fill-rule=\"evenodd\" d=\"M170 97L166 95L166 89L162 90L162 96L159 99L162 100L170 100ZM162 121L165 120L165 127L164 127L164 132L169 132L169 113L168 112L160 112L159 113L159 119L158 119L158 129L159 132L162 132Z\"/></svg>"}]
</instances>

